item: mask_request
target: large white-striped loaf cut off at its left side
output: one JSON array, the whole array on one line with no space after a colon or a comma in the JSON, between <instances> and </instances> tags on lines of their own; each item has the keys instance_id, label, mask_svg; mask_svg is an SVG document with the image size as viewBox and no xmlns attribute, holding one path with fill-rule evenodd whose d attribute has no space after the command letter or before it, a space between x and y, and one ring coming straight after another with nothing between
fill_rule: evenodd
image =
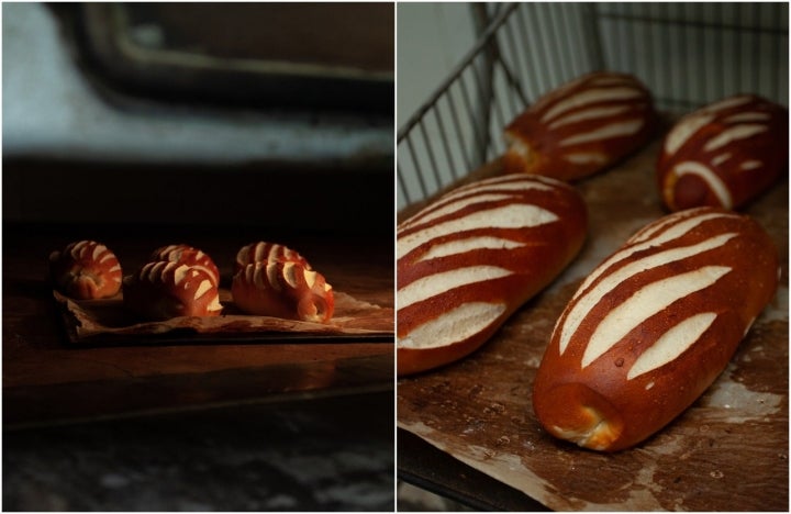
<instances>
[{"instance_id":1,"label":"large white-striped loaf cut off at its left side","mask_svg":"<svg viewBox=\"0 0 791 514\"><path fill-rule=\"evenodd\" d=\"M582 198L555 179L508 175L458 188L398 227L398 373L480 347L582 246Z\"/></svg>"}]
</instances>

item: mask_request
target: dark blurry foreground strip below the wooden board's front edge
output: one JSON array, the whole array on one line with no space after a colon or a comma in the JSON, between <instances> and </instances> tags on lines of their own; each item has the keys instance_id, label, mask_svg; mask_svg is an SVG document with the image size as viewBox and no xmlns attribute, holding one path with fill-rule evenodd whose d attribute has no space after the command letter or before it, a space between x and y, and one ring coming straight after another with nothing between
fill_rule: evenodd
<instances>
[{"instance_id":1,"label":"dark blurry foreground strip below the wooden board's front edge","mask_svg":"<svg viewBox=\"0 0 791 514\"><path fill-rule=\"evenodd\" d=\"M392 512L392 391L3 432L5 512Z\"/></svg>"}]
</instances>

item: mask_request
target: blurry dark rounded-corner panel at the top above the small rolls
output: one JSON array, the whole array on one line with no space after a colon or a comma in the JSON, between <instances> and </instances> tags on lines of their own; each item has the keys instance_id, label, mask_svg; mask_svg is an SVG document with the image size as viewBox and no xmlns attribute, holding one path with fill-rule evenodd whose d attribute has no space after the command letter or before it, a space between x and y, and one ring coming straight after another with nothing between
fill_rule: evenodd
<instances>
[{"instance_id":1,"label":"blurry dark rounded-corner panel at the top above the small rolls","mask_svg":"<svg viewBox=\"0 0 791 514\"><path fill-rule=\"evenodd\" d=\"M99 2L65 15L87 69L114 89L392 115L392 4Z\"/></svg>"}]
</instances>

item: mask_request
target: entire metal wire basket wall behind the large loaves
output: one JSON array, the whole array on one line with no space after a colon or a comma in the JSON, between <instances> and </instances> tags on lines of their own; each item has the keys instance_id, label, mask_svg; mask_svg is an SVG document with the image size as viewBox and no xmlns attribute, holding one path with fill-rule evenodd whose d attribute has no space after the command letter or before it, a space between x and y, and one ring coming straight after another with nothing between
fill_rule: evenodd
<instances>
[{"instance_id":1,"label":"entire metal wire basket wall behind the large loaves","mask_svg":"<svg viewBox=\"0 0 791 514\"><path fill-rule=\"evenodd\" d=\"M501 155L514 116L587 71L632 72L675 113L737 92L788 104L788 3L526 2L482 12L491 21L477 44L399 131L399 209Z\"/></svg>"}]
</instances>

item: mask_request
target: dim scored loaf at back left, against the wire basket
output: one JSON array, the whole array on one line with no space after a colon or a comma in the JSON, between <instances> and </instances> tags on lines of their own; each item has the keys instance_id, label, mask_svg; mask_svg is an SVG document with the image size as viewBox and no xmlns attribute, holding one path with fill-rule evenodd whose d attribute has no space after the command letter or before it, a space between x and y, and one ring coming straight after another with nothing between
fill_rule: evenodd
<instances>
[{"instance_id":1,"label":"dim scored loaf at back left, against the wire basket","mask_svg":"<svg viewBox=\"0 0 791 514\"><path fill-rule=\"evenodd\" d=\"M545 94L505 127L506 172L577 180L648 143L657 115L648 89L611 71L584 75Z\"/></svg>"}]
</instances>

